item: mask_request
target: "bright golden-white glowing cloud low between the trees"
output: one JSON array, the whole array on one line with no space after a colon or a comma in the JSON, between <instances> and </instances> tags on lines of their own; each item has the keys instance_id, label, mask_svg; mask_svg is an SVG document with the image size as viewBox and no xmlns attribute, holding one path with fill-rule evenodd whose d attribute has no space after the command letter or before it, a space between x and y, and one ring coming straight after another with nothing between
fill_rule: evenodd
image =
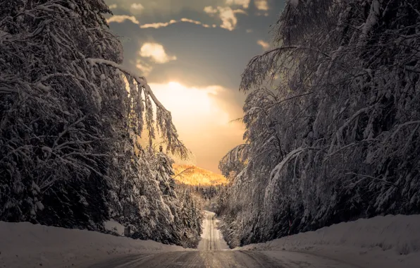
<instances>
[{"instance_id":1,"label":"bright golden-white glowing cloud low between the trees","mask_svg":"<svg viewBox=\"0 0 420 268\"><path fill-rule=\"evenodd\" d=\"M171 111L181 140L194 154L194 164L218 172L218 161L242 143L244 131L241 123L230 123L237 111L227 102L229 90L219 85L187 87L175 80L149 85Z\"/></svg>"}]
</instances>

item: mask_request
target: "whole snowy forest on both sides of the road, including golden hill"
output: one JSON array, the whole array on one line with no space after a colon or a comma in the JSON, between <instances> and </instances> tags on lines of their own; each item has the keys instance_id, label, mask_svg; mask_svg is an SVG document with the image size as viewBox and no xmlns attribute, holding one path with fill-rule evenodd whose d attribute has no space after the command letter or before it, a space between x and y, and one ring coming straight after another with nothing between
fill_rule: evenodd
<instances>
[{"instance_id":1,"label":"whole snowy forest on both sides of the road, including golden hill","mask_svg":"<svg viewBox=\"0 0 420 268\"><path fill-rule=\"evenodd\" d=\"M420 212L419 1L288 1L242 74L227 185L198 168L182 183L190 168L168 154L189 151L122 65L109 13L103 0L0 2L0 221L112 233L113 219L194 248L206 206L231 247Z\"/></svg>"}]
</instances>

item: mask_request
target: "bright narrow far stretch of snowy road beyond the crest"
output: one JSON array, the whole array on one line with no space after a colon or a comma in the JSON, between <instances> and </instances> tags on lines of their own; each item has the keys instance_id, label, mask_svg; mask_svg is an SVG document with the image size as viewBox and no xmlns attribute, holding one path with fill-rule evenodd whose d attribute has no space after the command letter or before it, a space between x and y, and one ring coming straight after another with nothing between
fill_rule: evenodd
<instances>
[{"instance_id":1,"label":"bright narrow far stretch of snowy road beyond the crest","mask_svg":"<svg viewBox=\"0 0 420 268\"><path fill-rule=\"evenodd\" d=\"M214 212L204 211L202 240L198 250L228 250L229 246L216 228L218 220Z\"/></svg>"}]
</instances>

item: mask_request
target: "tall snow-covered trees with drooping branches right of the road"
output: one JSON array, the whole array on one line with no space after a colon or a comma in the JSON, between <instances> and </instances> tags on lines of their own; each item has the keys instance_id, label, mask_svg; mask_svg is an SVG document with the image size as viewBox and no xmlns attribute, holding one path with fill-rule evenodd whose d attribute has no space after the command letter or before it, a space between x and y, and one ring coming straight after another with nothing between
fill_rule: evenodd
<instances>
[{"instance_id":1,"label":"tall snow-covered trees with drooping branches right of the road","mask_svg":"<svg viewBox=\"0 0 420 268\"><path fill-rule=\"evenodd\" d=\"M242 74L230 245L420 212L420 1L290 1Z\"/></svg>"}]
</instances>

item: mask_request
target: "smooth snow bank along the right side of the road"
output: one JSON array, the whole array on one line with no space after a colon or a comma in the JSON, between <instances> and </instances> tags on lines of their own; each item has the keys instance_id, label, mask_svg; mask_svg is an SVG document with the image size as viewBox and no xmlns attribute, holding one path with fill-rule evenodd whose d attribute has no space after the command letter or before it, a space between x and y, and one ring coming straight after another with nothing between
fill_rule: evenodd
<instances>
[{"instance_id":1,"label":"smooth snow bank along the right side of the road","mask_svg":"<svg viewBox=\"0 0 420 268\"><path fill-rule=\"evenodd\" d=\"M287 250L363 268L418 268L420 215L359 219L235 250L277 250L266 254L278 260Z\"/></svg>"}]
</instances>

